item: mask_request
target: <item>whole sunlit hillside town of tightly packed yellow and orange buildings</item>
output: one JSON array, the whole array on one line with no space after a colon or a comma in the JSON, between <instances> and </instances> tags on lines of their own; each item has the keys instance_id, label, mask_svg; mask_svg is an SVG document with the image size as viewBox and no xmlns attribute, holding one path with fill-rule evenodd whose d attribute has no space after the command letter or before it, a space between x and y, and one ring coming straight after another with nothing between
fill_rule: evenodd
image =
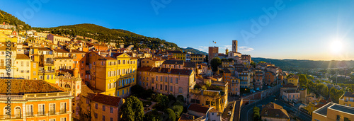
<instances>
[{"instance_id":1,"label":"whole sunlit hillside town of tightly packed yellow and orange buildings","mask_svg":"<svg viewBox=\"0 0 354 121\"><path fill-rule=\"evenodd\" d=\"M240 53L237 40L204 55L3 23L0 42L0 120L354 119L353 92L338 103L309 93L299 75Z\"/></svg>"}]
</instances>

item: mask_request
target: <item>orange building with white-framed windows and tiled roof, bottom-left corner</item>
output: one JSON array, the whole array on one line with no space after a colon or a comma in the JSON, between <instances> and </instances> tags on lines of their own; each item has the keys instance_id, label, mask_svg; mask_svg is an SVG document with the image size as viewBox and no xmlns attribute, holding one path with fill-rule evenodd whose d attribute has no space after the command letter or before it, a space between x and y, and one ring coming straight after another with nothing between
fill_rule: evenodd
<instances>
[{"instance_id":1,"label":"orange building with white-framed windows and tiled roof, bottom-left corner","mask_svg":"<svg viewBox=\"0 0 354 121\"><path fill-rule=\"evenodd\" d=\"M11 96L1 90L0 120L72 120L71 92L42 80L10 80ZM0 86L6 87L8 79L0 79ZM6 115L6 100L11 98L11 115Z\"/></svg>"}]
</instances>

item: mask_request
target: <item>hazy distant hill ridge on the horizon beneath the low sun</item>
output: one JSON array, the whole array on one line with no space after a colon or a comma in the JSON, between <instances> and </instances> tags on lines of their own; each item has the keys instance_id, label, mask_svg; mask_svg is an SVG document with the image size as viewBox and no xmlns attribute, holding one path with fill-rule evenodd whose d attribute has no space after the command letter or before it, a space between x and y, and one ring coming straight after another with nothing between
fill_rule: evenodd
<instances>
[{"instance_id":1,"label":"hazy distant hill ridge on the horizon beneath the low sun","mask_svg":"<svg viewBox=\"0 0 354 121\"><path fill-rule=\"evenodd\" d=\"M304 60L304 59L265 59L265 58L260 58L260 57L253 57L252 60L256 63L258 63L260 61L270 62L282 69L292 68L292 67L308 68L308 69L354 67L354 61L313 61L313 60Z\"/></svg>"}]
</instances>

